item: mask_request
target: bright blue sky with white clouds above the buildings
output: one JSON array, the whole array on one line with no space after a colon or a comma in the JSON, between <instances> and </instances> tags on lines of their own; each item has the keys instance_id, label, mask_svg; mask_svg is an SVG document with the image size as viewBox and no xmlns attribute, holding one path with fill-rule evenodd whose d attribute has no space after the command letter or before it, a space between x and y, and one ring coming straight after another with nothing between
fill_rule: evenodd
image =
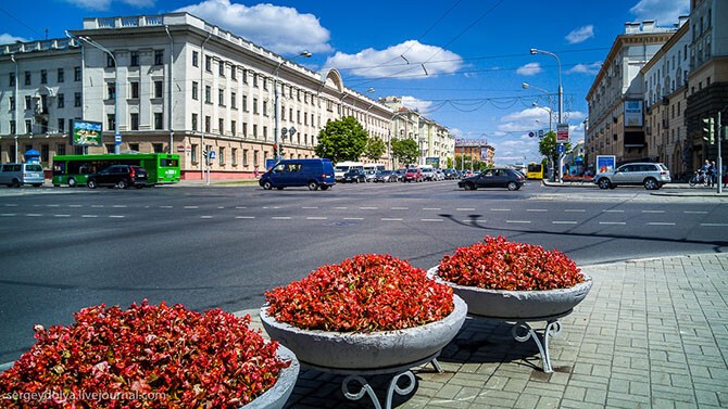
<instances>
[{"instance_id":1,"label":"bright blue sky with white clouds above the buildings","mask_svg":"<svg viewBox=\"0 0 728 409\"><path fill-rule=\"evenodd\" d=\"M0 5L0 43L64 37L83 18L186 10L311 69L336 67L372 98L402 97L459 138L487 140L495 161L540 159L529 131L564 118L583 138L586 94L626 22L673 26L689 0L36 0ZM523 88L529 84L529 89ZM373 92L368 92L374 89ZM542 107L535 107L537 103ZM538 119L538 122L537 122Z\"/></svg>"}]
</instances>

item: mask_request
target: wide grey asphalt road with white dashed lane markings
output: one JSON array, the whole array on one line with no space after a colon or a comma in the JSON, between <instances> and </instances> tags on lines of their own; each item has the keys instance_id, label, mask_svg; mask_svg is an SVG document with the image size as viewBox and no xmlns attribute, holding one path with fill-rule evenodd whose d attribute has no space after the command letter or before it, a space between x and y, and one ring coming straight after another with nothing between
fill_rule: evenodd
<instances>
[{"instance_id":1,"label":"wide grey asphalt road with white dashed lane markings","mask_svg":"<svg viewBox=\"0 0 728 409\"><path fill-rule=\"evenodd\" d=\"M0 190L0 363L32 327L102 304L260 307L324 264L389 253L429 268L485 235L579 265L728 251L728 201L643 189L462 191L451 181L263 191L247 187Z\"/></svg>"}]
</instances>

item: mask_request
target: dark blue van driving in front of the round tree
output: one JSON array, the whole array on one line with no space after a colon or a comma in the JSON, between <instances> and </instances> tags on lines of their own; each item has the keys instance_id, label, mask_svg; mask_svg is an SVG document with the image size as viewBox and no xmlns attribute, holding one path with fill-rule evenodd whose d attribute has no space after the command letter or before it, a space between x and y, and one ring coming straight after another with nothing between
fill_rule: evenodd
<instances>
[{"instance_id":1,"label":"dark blue van driving in front of the round tree","mask_svg":"<svg viewBox=\"0 0 728 409\"><path fill-rule=\"evenodd\" d=\"M284 159L261 176L263 189L307 187L309 190L327 190L336 184L334 164L329 159Z\"/></svg>"}]
</instances>

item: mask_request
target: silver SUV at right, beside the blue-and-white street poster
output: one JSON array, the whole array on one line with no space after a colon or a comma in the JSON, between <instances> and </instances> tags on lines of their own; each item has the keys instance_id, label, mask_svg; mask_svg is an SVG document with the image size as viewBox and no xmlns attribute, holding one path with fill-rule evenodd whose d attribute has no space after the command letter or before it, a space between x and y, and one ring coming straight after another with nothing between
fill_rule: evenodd
<instances>
[{"instance_id":1,"label":"silver SUV at right, beside the blue-and-white street poster","mask_svg":"<svg viewBox=\"0 0 728 409\"><path fill-rule=\"evenodd\" d=\"M614 189L619 184L644 186L647 190L657 190L671 181L669 169L658 163L632 163L622 165L612 171L598 174L593 179L600 189Z\"/></svg>"}]
</instances>

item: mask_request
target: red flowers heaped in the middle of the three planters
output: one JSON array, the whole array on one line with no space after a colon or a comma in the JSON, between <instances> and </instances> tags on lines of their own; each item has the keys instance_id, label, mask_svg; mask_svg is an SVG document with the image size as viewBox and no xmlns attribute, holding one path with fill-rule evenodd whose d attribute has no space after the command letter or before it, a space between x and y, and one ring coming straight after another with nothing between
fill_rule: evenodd
<instances>
[{"instance_id":1,"label":"red flowers heaped in the middle of the three planters","mask_svg":"<svg viewBox=\"0 0 728 409\"><path fill-rule=\"evenodd\" d=\"M309 330L374 332L438 321L454 309L452 289L390 255L357 255L265 293L267 314Z\"/></svg>"}]
</instances>

